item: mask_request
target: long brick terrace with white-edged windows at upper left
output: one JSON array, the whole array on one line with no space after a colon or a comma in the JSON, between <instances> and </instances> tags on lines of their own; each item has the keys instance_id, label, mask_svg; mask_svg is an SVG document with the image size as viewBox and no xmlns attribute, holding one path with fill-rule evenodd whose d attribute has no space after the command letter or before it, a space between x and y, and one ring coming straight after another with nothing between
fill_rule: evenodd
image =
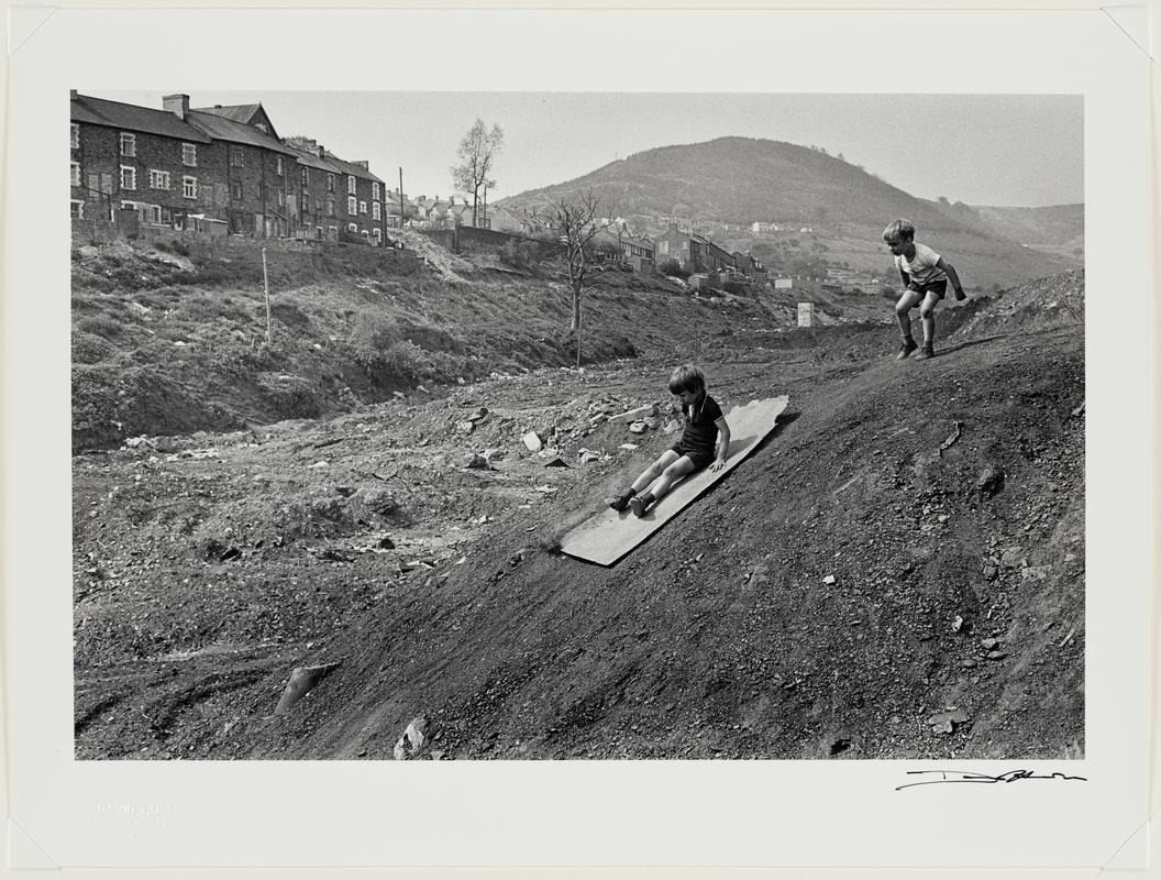
<instances>
[{"instance_id":1,"label":"long brick terrace with white-edged windows at upper left","mask_svg":"<svg viewBox=\"0 0 1161 880\"><path fill-rule=\"evenodd\" d=\"M163 109L71 93L74 223L142 225L260 238L382 245L401 205L367 161L315 139L281 138L261 103Z\"/></svg>"}]
</instances>

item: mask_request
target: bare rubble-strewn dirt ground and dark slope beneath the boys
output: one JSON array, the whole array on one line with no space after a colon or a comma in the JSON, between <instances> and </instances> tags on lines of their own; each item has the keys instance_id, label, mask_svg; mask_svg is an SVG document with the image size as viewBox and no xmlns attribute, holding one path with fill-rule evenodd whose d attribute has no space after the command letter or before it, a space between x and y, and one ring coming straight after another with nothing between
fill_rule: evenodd
<instances>
[{"instance_id":1,"label":"bare rubble-strewn dirt ground and dark slope beneath the boys","mask_svg":"<svg viewBox=\"0 0 1161 880\"><path fill-rule=\"evenodd\" d=\"M78 455L75 753L1081 757L1083 279L1037 283L925 362L748 322ZM1079 310L1021 319L1050 293ZM687 359L723 407L789 395L778 428L616 565L563 556L673 441Z\"/></svg>"}]
</instances>

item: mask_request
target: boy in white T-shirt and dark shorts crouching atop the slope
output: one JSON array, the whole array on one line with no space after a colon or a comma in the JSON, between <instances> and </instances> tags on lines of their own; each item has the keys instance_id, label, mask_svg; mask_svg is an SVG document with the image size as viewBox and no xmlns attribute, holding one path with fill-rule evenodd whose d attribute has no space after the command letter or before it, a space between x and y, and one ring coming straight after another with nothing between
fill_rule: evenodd
<instances>
[{"instance_id":1,"label":"boy in white T-shirt and dark shorts crouching atop the slope","mask_svg":"<svg viewBox=\"0 0 1161 880\"><path fill-rule=\"evenodd\" d=\"M956 269L943 257L926 245L915 240L915 225L910 221L897 219L882 231L882 240L887 243L895 258L895 268L903 279L903 295L895 303L895 317L903 333L903 345L896 358L903 360L918 346L911 338L911 309L920 306L923 319L923 351L920 358L935 358L936 304L947 293L947 280L956 288L956 298L966 300L964 286L959 283Z\"/></svg>"}]
</instances>

